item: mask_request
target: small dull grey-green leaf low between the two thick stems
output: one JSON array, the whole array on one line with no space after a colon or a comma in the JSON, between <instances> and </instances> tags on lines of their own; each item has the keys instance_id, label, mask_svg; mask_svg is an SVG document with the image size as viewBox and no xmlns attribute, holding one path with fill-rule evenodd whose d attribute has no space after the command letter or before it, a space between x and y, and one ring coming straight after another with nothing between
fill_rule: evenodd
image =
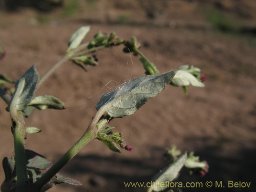
<instances>
[{"instance_id":1,"label":"small dull grey-green leaf low between the two thick stems","mask_svg":"<svg viewBox=\"0 0 256 192\"><path fill-rule=\"evenodd\" d=\"M26 150L27 167L34 167L38 169L47 169L52 163L44 156L35 153L31 150Z\"/></svg>"}]
</instances>

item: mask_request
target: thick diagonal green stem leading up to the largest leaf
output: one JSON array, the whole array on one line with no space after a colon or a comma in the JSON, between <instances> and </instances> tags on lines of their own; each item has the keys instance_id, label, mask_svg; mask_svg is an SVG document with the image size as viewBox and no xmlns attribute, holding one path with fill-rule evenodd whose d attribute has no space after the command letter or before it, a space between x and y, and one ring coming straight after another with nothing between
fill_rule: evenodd
<instances>
[{"instance_id":1,"label":"thick diagonal green stem leading up to the largest leaf","mask_svg":"<svg viewBox=\"0 0 256 192\"><path fill-rule=\"evenodd\" d=\"M65 166L85 145L97 137L98 130L96 127L97 122L105 113L104 106L99 109L95 114L92 122L90 123L86 133L70 148L70 150L63 155L39 180L33 184L35 190L41 189L52 177L54 177L59 170Z\"/></svg>"}]
</instances>

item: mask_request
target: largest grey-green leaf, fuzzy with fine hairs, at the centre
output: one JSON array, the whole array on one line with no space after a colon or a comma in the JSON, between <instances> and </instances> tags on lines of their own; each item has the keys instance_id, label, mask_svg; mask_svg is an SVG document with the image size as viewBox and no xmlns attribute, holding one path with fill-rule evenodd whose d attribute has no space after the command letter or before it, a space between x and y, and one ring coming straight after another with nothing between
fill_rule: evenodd
<instances>
[{"instance_id":1,"label":"largest grey-green leaf, fuzzy with fine hairs, at the centre","mask_svg":"<svg viewBox=\"0 0 256 192\"><path fill-rule=\"evenodd\" d=\"M103 95L96 109L106 105L106 113L114 118L132 115L148 99L160 93L176 72L174 70L159 75L146 75L130 81L116 91Z\"/></svg>"}]
</instances>

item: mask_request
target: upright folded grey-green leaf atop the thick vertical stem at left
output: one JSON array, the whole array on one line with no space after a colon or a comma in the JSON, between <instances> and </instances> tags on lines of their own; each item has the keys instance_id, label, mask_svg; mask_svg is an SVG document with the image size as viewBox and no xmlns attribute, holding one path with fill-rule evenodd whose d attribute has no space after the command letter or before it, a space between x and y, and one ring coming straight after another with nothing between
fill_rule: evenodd
<instances>
[{"instance_id":1,"label":"upright folded grey-green leaf atop the thick vertical stem at left","mask_svg":"<svg viewBox=\"0 0 256 192\"><path fill-rule=\"evenodd\" d=\"M16 82L16 90L12 96L11 105L15 110L23 111L30 103L36 90L36 84L39 80L39 75L33 65L22 77Z\"/></svg>"}]
</instances>

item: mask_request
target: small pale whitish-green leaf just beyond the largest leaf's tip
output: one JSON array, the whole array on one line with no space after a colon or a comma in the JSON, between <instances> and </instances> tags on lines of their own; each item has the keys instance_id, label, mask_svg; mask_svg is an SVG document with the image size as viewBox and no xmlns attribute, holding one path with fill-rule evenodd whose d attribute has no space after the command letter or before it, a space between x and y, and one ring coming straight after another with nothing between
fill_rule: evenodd
<instances>
[{"instance_id":1,"label":"small pale whitish-green leaf just beyond the largest leaf's tip","mask_svg":"<svg viewBox=\"0 0 256 192\"><path fill-rule=\"evenodd\" d=\"M183 87L189 85L199 88L204 87L204 83L200 82L194 75L182 70L179 70L176 73L170 84L176 87Z\"/></svg>"}]
</instances>

